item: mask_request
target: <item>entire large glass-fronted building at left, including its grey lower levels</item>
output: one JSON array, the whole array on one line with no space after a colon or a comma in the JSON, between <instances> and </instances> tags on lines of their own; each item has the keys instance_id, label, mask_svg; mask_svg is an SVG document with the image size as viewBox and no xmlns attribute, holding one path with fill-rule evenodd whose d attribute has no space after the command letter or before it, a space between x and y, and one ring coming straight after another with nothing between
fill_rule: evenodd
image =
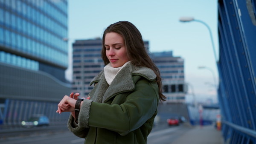
<instances>
[{"instance_id":1,"label":"entire large glass-fronted building at left, including its grey lower levels","mask_svg":"<svg viewBox=\"0 0 256 144\"><path fill-rule=\"evenodd\" d=\"M56 110L71 92L64 73L67 5L67 0L0 0L0 124L20 125L34 114L47 115L50 124L66 123L69 114Z\"/></svg>"}]
</instances>

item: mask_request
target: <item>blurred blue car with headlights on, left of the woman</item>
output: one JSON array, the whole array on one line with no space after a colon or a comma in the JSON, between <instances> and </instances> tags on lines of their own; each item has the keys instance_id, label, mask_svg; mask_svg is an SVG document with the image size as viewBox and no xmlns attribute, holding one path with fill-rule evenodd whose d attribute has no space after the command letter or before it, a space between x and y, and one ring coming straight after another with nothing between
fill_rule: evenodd
<instances>
[{"instance_id":1,"label":"blurred blue car with headlights on, left of the woman","mask_svg":"<svg viewBox=\"0 0 256 144\"><path fill-rule=\"evenodd\" d=\"M49 126L49 118L45 115L33 116L28 121L22 121L21 125L24 127Z\"/></svg>"}]
</instances>

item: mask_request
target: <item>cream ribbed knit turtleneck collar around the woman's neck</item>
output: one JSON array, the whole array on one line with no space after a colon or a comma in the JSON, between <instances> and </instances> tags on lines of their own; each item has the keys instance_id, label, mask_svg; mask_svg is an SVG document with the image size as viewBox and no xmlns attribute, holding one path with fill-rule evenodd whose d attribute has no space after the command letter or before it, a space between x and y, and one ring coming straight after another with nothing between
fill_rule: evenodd
<instances>
[{"instance_id":1,"label":"cream ribbed knit turtleneck collar around the woman's neck","mask_svg":"<svg viewBox=\"0 0 256 144\"><path fill-rule=\"evenodd\" d=\"M120 67L112 67L111 63L108 63L105 67L104 67L104 75L106 78L107 83L110 85L113 81L113 79L116 77L117 73L123 68L125 67L128 63L130 63L131 61L126 62L124 65L120 66Z\"/></svg>"}]
</instances>

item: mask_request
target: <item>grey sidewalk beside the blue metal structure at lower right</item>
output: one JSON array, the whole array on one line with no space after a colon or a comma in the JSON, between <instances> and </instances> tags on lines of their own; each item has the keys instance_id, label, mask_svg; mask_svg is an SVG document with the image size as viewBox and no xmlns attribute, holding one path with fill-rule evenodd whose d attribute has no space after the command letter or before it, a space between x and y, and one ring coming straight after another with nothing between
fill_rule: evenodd
<instances>
[{"instance_id":1,"label":"grey sidewalk beside the blue metal structure at lower right","mask_svg":"<svg viewBox=\"0 0 256 144\"><path fill-rule=\"evenodd\" d=\"M171 144L224 144L221 131L213 125L195 126Z\"/></svg>"}]
</instances>

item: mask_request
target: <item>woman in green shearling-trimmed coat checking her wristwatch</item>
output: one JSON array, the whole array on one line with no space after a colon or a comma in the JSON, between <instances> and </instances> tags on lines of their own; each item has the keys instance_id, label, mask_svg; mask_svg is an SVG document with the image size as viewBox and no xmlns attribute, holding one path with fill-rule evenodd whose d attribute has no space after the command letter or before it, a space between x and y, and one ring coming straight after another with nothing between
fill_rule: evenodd
<instances>
[{"instance_id":1,"label":"woman in green shearling-trimmed coat checking her wristwatch","mask_svg":"<svg viewBox=\"0 0 256 144\"><path fill-rule=\"evenodd\" d=\"M128 21L113 23L102 37L104 70L79 104L65 96L57 112L71 112L68 128L85 144L146 144L159 100L165 101L157 66L148 56L139 30ZM75 105L80 110L74 111ZM78 111L78 110L76 110Z\"/></svg>"}]
</instances>

